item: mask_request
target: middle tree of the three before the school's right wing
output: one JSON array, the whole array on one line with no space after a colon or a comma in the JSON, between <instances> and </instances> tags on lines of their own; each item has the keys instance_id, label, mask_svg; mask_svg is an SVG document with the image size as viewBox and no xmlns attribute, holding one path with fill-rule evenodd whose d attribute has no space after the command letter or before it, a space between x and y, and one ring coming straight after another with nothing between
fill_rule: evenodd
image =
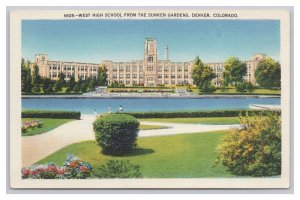
<instances>
[{"instance_id":1,"label":"middle tree of the three before the school's right wing","mask_svg":"<svg viewBox=\"0 0 300 200\"><path fill-rule=\"evenodd\" d=\"M242 83L244 76L247 73L246 63L240 61L238 58L229 57L224 64L223 79L224 85L229 84L237 86Z\"/></svg>"}]
</instances>

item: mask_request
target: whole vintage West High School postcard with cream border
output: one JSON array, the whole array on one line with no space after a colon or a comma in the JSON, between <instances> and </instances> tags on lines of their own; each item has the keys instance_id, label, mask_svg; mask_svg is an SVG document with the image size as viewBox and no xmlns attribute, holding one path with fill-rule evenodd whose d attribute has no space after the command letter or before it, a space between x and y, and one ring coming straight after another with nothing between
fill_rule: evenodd
<instances>
[{"instance_id":1,"label":"whole vintage West High School postcard with cream border","mask_svg":"<svg viewBox=\"0 0 300 200\"><path fill-rule=\"evenodd\" d=\"M10 11L13 189L290 187L290 11Z\"/></svg>"}]
</instances>

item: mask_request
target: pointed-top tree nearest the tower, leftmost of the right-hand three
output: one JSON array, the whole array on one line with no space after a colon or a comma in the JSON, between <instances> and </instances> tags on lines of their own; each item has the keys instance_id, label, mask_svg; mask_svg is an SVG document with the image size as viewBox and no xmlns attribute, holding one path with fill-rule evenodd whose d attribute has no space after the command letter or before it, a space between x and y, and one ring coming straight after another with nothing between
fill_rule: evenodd
<instances>
[{"instance_id":1,"label":"pointed-top tree nearest the tower, leftmost of the right-hand three","mask_svg":"<svg viewBox=\"0 0 300 200\"><path fill-rule=\"evenodd\" d=\"M216 77L213 69L204 65L202 61L197 57L194 61L194 67L192 70L192 78L194 84L197 85L200 92L211 93L215 90L211 83L211 80Z\"/></svg>"}]
</instances>

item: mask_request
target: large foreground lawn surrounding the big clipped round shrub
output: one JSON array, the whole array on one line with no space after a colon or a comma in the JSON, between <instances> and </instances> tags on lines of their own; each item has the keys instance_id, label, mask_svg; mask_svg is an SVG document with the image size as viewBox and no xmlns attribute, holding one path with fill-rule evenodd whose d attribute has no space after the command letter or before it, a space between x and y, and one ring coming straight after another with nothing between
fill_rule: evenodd
<instances>
[{"instance_id":1,"label":"large foreground lawn surrounding the big clipped round shrub","mask_svg":"<svg viewBox=\"0 0 300 200\"><path fill-rule=\"evenodd\" d=\"M90 162L94 169L109 159L129 160L141 167L145 178L233 177L221 165L213 166L216 146L225 131L145 137L137 141L138 148L130 155L107 156L95 141L69 145L39 161L62 165L68 154Z\"/></svg>"}]
</instances>

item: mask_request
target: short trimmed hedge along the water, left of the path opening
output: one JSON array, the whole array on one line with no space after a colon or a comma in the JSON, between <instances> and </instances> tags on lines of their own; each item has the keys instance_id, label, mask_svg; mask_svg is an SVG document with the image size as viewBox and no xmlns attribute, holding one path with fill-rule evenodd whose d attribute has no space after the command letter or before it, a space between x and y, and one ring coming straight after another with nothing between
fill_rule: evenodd
<instances>
[{"instance_id":1,"label":"short trimmed hedge along the water, left of the path opening","mask_svg":"<svg viewBox=\"0 0 300 200\"><path fill-rule=\"evenodd\" d=\"M80 116L81 113L77 111L50 111L50 110L22 111L22 118L80 119Z\"/></svg>"}]
</instances>

